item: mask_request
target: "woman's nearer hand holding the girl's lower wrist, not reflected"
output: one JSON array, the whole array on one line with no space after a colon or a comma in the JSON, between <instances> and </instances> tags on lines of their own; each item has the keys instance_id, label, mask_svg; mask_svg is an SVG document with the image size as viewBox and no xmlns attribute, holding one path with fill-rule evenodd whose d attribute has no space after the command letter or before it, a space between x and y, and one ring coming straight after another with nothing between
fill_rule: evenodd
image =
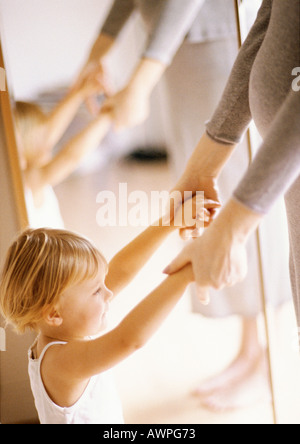
<instances>
[{"instance_id":1,"label":"woman's nearer hand holding the girl's lower wrist, not reflected","mask_svg":"<svg viewBox=\"0 0 300 444\"><path fill-rule=\"evenodd\" d=\"M203 236L189 244L164 270L173 274L191 263L202 303L208 289L233 286L247 274L246 241L262 216L231 199Z\"/></svg>"}]
</instances>

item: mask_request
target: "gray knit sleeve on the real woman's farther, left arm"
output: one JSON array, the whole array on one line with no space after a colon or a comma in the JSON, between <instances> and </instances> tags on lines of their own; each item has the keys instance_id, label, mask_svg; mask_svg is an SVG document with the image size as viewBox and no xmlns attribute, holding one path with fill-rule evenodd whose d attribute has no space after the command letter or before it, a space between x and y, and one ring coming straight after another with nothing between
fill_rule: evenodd
<instances>
[{"instance_id":1,"label":"gray knit sleeve on the real woman's farther, left arm","mask_svg":"<svg viewBox=\"0 0 300 444\"><path fill-rule=\"evenodd\" d=\"M207 134L217 142L240 142L252 119L249 106L250 74L268 29L271 9L272 0L264 0L239 51L221 101L206 124Z\"/></svg>"}]
</instances>

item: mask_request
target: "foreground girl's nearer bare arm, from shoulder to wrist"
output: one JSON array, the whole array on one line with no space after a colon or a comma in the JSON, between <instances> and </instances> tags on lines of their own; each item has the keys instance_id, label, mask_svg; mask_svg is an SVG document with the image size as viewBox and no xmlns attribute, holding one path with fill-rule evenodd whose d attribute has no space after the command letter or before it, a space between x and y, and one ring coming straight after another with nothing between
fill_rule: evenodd
<instances>
[{"instance_id":1,"label":"foreground girl's nearer bare arm, from shoulder to wrist","mask_svg":"<svg viewBox=\"0 0 300 444\"><path fill-rule=\"evenodd\" d=\"M91 341L61 347L55 368L68 381L80 381L104 372L127 358L153 336L194 280L191 265L169 276L109 333ZM53 364L54 365L54 364Z\"/></svg>"}]
</instances>

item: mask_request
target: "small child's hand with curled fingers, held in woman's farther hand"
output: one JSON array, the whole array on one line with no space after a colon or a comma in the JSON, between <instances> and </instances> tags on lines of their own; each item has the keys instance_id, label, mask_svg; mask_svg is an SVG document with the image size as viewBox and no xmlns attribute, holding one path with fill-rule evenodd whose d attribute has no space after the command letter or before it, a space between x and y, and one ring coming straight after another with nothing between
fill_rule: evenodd
<instances>
[{"instance_id":1,"label":"small child's hand with curled fingers, held in woman's farther hand","mask_svg":"<svg viewBox=\"0 0 300 444\"><path fill-rule=\"evenodd\" d=\"M205 199L202 194L197 194L177 208L173 223L180 229L182 238L196 238L202 234L203 228L211 223L209 209L214 204L215 202Z\"/></svg>"}]
</instances>

